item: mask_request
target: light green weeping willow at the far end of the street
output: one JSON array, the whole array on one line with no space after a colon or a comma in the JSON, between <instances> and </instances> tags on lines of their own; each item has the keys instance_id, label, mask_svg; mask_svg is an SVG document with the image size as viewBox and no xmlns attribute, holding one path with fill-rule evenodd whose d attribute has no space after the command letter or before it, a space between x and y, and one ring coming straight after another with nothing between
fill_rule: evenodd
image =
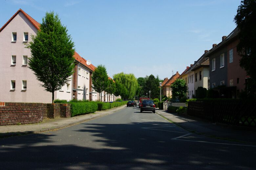
<instances>
[{"instance_id":1,"label":"light green weeping willow at the far end of the street","mask_svg":"<svg viewBox=\"0 0 256 170\"><path fill-rule=\"evenodd\" d=\"M124 92L126 92L126 94L121 94L122 98L132 99L136 95L138 82L134 74L132 73L125 74L121 72L121 73L115 74L113 76L113 79L115 80L115 82L118 82L125 87Z\"/></svg>"}]
</instances>

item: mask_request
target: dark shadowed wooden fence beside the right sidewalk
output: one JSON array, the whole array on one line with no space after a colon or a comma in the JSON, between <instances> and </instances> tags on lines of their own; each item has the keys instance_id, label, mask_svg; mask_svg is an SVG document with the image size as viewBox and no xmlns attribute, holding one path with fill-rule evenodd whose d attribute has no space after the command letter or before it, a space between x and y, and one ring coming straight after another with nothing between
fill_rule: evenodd
<instances>
[{"instance_id":1,"label":"dark shadowed wooden fence beside the right sidewalk","mask_svg":"<svg viewBox=\"0 0 256 170\"><path fill-rule=\"evenodd\" d=\"M231 125L256 127L256 104L241 100L199 100L188 102L187 114Z\"/></svg>"}]
</instances>

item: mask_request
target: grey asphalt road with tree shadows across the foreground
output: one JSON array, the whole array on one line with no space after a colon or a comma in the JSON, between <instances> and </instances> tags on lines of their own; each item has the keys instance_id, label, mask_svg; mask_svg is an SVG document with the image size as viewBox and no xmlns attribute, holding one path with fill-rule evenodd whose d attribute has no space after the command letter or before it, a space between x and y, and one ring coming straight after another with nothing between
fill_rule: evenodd
<instances>
[{"instance_id":1,"label":"grey asphalt road with tree shadows across the foreground","mask_svg":"<svg viewBox=\"0 0 256 170\"><path fill-rule=\"evenodd\" d=\"M0 139L0 169L256 169L256 147L191 134L139 107Z\"/></svg>"}]
</instances>

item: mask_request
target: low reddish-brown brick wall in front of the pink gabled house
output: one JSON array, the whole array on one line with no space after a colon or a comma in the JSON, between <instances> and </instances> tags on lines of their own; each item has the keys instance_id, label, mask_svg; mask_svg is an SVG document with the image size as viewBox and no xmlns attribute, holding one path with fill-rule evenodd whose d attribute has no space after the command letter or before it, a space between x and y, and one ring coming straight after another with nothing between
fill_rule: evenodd
<instances>
[{"instance_id":1,"label":"low reddish-brown brick wall in front of the pink gabled house","mask_svg":"<svg viewBox=\"0 0 256 170\"><path fill-rule=\"evenodd\" d=\"M0 125L42 122L45 118L71 117L70 104L0 102Z\"/></svg>"}]
</instances>

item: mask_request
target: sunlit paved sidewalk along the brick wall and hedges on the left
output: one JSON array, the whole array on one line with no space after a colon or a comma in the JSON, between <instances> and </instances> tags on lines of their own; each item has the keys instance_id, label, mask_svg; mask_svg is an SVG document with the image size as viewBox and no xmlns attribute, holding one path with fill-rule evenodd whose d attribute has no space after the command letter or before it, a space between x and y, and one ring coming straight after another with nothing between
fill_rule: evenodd
<instances>
[{"instance_id":1,"label":"sunlit paved sidewalk along the brick wall and hedges on the left","mask_svg":"<svg viewBox=\"0 0 256 170\"><path fill-rule=\"evenodd\" d=\"M122 110L125 107L126 105L123 105L117 108L96 111L95 113L75 116L71 118L44 119L43 122L40 123L3 125L0 126L0 138L56 130L109 115L119 110Z\"/></svg>"}]
</instances>

